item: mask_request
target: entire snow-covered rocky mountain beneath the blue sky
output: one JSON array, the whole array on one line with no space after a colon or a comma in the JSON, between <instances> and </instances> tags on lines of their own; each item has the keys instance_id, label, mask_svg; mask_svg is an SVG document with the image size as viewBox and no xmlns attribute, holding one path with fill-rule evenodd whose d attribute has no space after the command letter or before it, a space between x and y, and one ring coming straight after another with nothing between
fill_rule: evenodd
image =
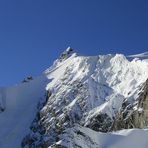
<instances>
[{"instance_id":1,"label":"entire snow-covered rocky mountain beneath the blue sky","mask_svg":"<svg viewBox=\"0 0 148 148\"><path fill-rule=\"evenodd\" d=\"M137 146L147 130L108 132L148 125L146 55L79 56L69 47L41 76L0 88L0 147Z\"/></svg>"}]
</instances>

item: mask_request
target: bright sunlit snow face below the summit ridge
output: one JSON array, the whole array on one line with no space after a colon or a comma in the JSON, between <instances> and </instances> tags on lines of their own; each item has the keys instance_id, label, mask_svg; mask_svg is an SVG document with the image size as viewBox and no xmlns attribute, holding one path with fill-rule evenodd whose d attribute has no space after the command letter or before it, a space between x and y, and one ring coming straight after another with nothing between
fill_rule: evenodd
<instances>
[{"instance_id":1,"label":"bright sunlit snow face below the summit ridge","mask_svg":"<svg viewBox=\"0 0 148 148\"><path fill-rule=\"evenodd\" d=\"M103 112L112 118L124 99L133 101L137 98L139 88L148 78L147 69L148 61L129 61L121 54L96 57L72 54L54 68L47 69L45 75L52 79L47 89L55 95L55 100L63 94L69 97L74 84L82 83L87 91L82 98L87 102L87 113L93 116L96 112ZM74 107L78 98L72 102L69 108Z\"/></svg>"}]
</instances>

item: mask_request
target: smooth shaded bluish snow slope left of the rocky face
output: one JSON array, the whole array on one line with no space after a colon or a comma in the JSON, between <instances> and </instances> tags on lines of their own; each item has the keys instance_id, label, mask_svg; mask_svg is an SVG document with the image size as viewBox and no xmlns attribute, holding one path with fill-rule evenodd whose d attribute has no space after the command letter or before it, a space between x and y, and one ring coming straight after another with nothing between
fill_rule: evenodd
<instances>
[{"instance_id":1,"label":"smooth shaded bluish snow slope left of the rocky face","mask_svg":"<svg viewBox=\"0 0 148 148\"><path fill-rule=\"evenodd\" d=\"M21 147L23 137L29 132L37 104L46 94L46 77L13 87L0 88L0 102L4 111L0 113L0 147Z\"/></svg>"}]
</instances>

